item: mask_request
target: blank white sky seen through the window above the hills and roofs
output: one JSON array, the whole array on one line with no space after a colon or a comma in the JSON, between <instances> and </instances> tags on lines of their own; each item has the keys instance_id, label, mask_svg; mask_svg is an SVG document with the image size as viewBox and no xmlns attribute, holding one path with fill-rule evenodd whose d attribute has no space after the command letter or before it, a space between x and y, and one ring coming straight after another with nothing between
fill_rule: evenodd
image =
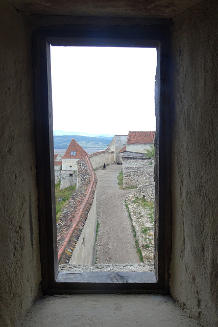
<instances>
[{"instance_id":1,"label":"blank white sky seen through the window above the hills and roofs","mask_svg":"<svg viewBox=\"0 0 218 327\"><path fill-rule=\"evenodd\" d=\"M53 129L155 130L156 49L51 46Z\"/></svg>"}]
</instances>

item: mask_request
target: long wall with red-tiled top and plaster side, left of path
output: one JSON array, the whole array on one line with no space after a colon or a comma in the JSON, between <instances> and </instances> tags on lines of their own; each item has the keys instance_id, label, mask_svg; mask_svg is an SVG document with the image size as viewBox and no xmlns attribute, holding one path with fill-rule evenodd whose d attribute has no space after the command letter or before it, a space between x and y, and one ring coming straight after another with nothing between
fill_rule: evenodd
<instances>
[{"instance_id":1,"label":"long wall with red-tiled top and plaster side, left of path","mask_svg":"<svg viewBox=\"0 0 218 327\"><path fill-rule=\"evenodd\" d=\"M78 161L77 180L77 190L57 221L59 264L68 264L70 260L73 263L91 264L93 260L97 177L88 157Z\"/></svg>"}]
</instances>

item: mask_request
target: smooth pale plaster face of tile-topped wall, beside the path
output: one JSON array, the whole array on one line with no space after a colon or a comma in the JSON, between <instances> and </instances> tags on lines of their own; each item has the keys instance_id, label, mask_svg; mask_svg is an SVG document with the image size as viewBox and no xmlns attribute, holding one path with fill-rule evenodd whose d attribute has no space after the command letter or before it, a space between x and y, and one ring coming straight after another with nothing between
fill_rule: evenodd
<instances>
[{"instance_id":1,"label":"smooth pale plaster face of tile-topped wall, beside the path","mask_svg":"<svg viewBox=\"0 0 218 327\"><path fill-rule=\"evenodd\" d=\"M77 242L76 249L72 252L69 264L93 264L96 217L96 196L94 195L86 223Z\"/></svg>"}]
</instances>

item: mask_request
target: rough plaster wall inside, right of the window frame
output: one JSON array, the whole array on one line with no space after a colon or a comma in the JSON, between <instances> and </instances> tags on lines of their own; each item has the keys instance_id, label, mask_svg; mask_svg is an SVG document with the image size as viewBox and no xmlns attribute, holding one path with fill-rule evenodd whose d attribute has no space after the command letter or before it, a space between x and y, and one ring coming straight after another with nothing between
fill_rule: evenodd
<instances>
[{"instance_id":1,"label":"rough plaster wall inside, right of the window frame","mask_svg":"<svg viewBox=\"0 0 218 327\"><path fill-rule=\"evenodd\" d=\"M171 293L203 326L218 325L217 2L174 19Z\"/></svg>"}]
</instances>

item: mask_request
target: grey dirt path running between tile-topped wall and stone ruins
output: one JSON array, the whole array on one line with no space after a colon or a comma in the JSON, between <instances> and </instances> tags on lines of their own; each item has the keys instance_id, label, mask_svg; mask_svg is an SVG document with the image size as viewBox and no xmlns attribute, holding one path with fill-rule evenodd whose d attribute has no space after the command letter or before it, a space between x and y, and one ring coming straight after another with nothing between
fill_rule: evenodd
<instances>
[{"instance_id":1,"label":"grey dirt path running between tile-topped wall and stone ruins","mask_svg":"<svg viewBox=\"0 0 218 327\"><path fill-rule=\"evenodd\" d=\"M96 242L98 263L140 263L124 202L134 190L119 189L117 176L121 169L122 166L110 165L106 166L106 170L95 172L98 177L96 204L100 223Z\"/></svg>"}]
</instances>

